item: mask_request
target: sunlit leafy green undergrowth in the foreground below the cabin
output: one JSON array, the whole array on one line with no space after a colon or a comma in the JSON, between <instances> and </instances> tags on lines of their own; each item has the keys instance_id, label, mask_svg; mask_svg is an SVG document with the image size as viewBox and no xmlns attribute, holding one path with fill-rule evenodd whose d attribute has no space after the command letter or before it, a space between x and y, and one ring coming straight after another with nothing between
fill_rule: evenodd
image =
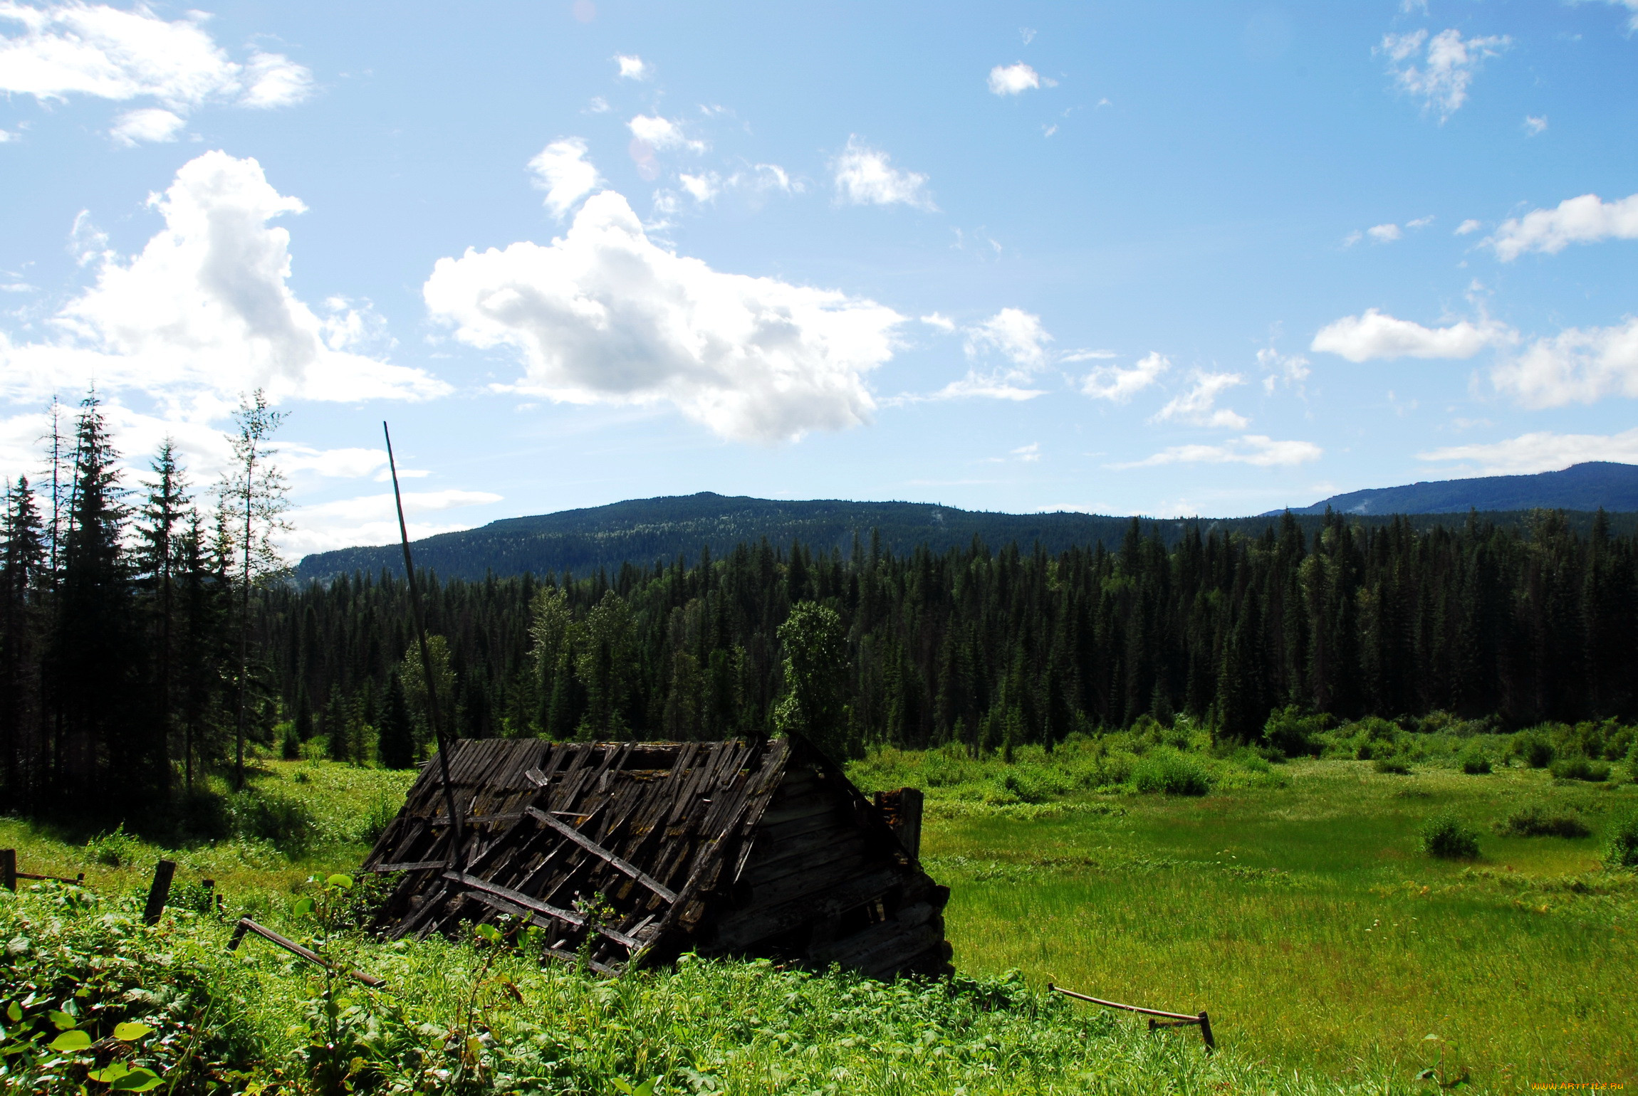
<instances>
[{"instance_id":1,"label":"sunlit leafy green undergrowth in the foreground below the cabin","mask_svg":"<svg viewBox=\"0 0 1638 1096\"><path fill-rule=\"evenodd\" d=\"M342 885L346 883L346 885ZM1152 1035L1017 973L883 985L767 962L603 980L541 967L529 934L468 944L324 936L351 880L285 931L387 980L365 990L187 911L54 883L0 892L8 1093L1343 1091L1192 1032ZM313 914L321 914L313 919ZM488 928L488 926L486 926ZM82 1088L84 1086L84 1088ZM1376 1086L1374 1091L1382 1091Z\"/></svg>"}]
</instances>

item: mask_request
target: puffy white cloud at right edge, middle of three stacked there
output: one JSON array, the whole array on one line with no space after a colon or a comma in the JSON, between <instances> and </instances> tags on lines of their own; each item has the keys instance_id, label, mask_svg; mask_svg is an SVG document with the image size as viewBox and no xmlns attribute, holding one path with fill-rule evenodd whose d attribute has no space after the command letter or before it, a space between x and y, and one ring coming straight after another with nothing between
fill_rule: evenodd
<instances>
[{"instance_id":1,"label":"puffy white cloud at right edge, middle of three stacked there","mask_svg":"<svg viewBox=\"0 0 1638 1096\"><path fill-rule=\"evenodd\" d=\"M1491 380L1527 407L1638 396L1638 317L1613 327L1568 327L1499 363Z\"/></svg>"}]
</instances>

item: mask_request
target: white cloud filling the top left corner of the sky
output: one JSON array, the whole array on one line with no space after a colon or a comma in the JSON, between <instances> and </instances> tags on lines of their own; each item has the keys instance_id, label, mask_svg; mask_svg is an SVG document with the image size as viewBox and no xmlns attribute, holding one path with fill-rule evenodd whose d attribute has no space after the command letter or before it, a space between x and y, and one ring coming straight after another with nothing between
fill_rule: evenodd
<instances>
[{"instance_id":1,"label":"white cloud filling the top left corner of the sky","mask_svg":"<svg viewBox=\"0 0 1638 1096\"><path fill-rule=\"evenodd\" d=\"M0 92L36 100L88 95L115 101L156 98L174 115L210 101L288 106L305 100L313 74L283 54L254 51L233 61L205 29L205 16L165 21L147 7L0 3Z\"/></svg>"}]
</instances>

